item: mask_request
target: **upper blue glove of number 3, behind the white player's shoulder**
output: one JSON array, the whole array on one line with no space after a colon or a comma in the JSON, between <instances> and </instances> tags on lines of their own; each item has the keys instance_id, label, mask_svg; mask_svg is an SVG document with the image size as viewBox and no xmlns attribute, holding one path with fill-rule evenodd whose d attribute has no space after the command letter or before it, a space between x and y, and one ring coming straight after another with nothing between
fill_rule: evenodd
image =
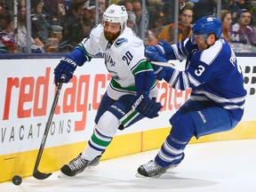
<instances>
[{"instance_id":1,"label":"upper blue glove of number 3, behind the white player's shoulder","mask_svg":"<svg viewBox=\"0 0 256 192\"><path fill-rule=\"evenodd\" d=\"M164 48L161 45L147 46L145 48L145 55L149 61L156 60L160 62L167 62L165 59Z\"/></svg>"}]
</instances>

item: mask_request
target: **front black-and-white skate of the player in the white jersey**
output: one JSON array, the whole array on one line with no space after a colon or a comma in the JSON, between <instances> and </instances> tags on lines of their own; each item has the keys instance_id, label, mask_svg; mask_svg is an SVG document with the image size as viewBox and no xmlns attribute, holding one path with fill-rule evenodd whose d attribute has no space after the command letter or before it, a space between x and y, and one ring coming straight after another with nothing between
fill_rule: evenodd
<instances>
[{"instance_id":1,"label":"front black-and-white skate of the player in the white jersey","mask_svg":"<svg viewBox=\"0 0 256 192\"><path fill-rule=\"evenodd\" d=\"M90 164L90 161L82 158L81 155L82 153L70 161L69 164L64 164L60 171L69 177L73 177L80 172L84 172L84 169Z\"/></svg>"}]
</instances>

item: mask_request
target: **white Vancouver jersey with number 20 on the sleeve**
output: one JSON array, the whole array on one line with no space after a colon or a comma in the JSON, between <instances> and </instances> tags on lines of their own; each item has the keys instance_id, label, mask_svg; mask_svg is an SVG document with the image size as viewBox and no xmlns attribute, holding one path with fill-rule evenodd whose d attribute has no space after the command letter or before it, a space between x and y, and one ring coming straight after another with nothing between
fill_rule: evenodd
<instances>
[{"instance_id":1,"label":"white Vancouver jersey with number 20 on the sleeve","mask_svg":"<svg viewBox=\"0 0 256 192\"><path fill-rule=\"evenodd\" d=\"M104 36L103 26L99 24L78 46L84 49L89 60L96 53L102 52L105 65L112 76L107 90L112 99L117 100L126 93L136 94L134 75L140 72L139 64L147 60L143 41L133 34L131 28L124 28L114 44L109 44ZM156 81L152 84L150 96L156 96Z\"/></svg>"}]
</instances>

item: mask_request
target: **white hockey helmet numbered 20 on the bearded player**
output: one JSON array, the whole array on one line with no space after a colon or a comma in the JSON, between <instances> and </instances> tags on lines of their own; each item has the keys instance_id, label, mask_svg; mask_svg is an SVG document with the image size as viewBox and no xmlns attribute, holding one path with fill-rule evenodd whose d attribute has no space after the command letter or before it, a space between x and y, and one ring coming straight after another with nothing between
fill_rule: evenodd
<instances>
[{"instance_id":1,"label":"white hockey helmet numbered 20 on the bearded player","mask_svg":"<svg viewBox=\"0 0 256 192\"><path fill-rule=\"evenodd\" d=\"M126 27L126 22L128 20L128 14L124 5L111 4L103 13L102 20L103 25L105 21L120 23L121 32L123 32L124 28Z\"/></svg>"}]
</instances>

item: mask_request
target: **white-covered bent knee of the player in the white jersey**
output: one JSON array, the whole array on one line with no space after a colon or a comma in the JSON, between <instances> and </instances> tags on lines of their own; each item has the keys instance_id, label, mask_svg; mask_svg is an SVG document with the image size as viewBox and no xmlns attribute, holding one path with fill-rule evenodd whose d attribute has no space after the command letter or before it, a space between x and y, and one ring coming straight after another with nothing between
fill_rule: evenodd
<instances>
[{"instance_id":1,"label":"white-covered bent knee of the player in the white jersey","mask_svg":"<svg viewBox=\"0 0 256 192\"><path fill-rule=\"evenodd\" d=\"M106 111L102 116L100 116L99 122L96 125L97 130L108 137L114 137L116 135L116 130L119 127L119 120L109 111Z\"/></svg>"}]
</instances>

